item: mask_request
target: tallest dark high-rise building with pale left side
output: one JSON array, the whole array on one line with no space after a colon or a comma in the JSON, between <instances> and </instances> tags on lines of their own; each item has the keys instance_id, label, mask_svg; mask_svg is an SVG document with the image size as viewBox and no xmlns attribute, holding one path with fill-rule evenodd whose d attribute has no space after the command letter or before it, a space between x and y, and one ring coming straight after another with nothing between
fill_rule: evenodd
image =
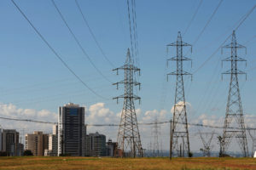
<instances>
[{"instance_id":1,"label":"tallest dark high-rise building with pale left side","mask_svg":"<svg viewBox=\"0 0 256 170\"><path fill-rule=\"evenodd\" d=\"M58 156L84 156L84 107L69 103L59 108Z\"/></svg>"}]
</instances>

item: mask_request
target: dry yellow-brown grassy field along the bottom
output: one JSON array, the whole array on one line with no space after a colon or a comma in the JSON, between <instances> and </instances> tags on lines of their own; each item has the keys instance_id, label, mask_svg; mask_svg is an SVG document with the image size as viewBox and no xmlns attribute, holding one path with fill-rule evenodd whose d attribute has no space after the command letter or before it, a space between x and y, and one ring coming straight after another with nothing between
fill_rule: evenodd
<instances>
[{"instance_id":1,"label":"dry yellow-brown grassy field along the bottom","mask_svg":"<svg viewBox=\"0 0 256 170\"><path fill-rule=\"evenodd\" d=\"M0 169L256 169L253 158L0 157Z\"/></svg>"}]
</instances>

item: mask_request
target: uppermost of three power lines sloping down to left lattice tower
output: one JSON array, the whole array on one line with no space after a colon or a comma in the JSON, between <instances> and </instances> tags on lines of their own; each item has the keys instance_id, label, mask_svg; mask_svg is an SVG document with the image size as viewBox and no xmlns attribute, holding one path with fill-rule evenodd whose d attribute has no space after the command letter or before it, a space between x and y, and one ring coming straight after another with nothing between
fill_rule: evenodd
<instances>
[{"instance_id":1,"label":"uppermost of three power lines sloping down to left lattice tower","mask_svg":"<svg viewBox=\"0 0 256 170\"><path fill-rule=\"evenodd\" d=\"M85 15L84 15L82 9L80 8L79 2L78 2L77 0L75 0L75 3L76 3L76 5L77 5L77 7L79 8L79 12L80 12L80 14L82 15L82 18L83 18L83 20L84 20L85 25L88 27L88 29L89 29L89 31L90 31L91 37L93 37L94 41L96 42L96 46L100 49L100 51L101 51L103 57L108 61L109 65L115 67L115 66L113 65L113 63L108 59L108 57L107 57L107 55L105 54L105 52L103 51L103 49L102 49L100 43L97 41L95 34L93 33L92 29L90 28L90 25L89 25L88 21L86 20Z\"/></svg>"}]
</instances>

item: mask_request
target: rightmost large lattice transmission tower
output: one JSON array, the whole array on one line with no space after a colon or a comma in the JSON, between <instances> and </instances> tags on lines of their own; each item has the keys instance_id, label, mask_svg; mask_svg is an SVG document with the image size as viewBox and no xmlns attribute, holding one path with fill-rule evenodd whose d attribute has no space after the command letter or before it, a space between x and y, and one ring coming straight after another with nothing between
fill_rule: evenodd
<instances>
[{"instance_id":1,"label":"rightmost large lattice transmission tower","mask_svg":"<svg viewBox=\"0 0 256 170\"><path fill-rule=\"evenodd\" d=\"M247 136L244 125L243 113L241 109L241 96L238 83L238 75L243 75L246 73L244 71L238 70L237 68L238 61L246 61L246 59L242 59L237 56L237 49L246 49L246 47L236 42L236 34L235 31L233 31L230 44L225 45L223 48L231 49L231 56L223 60L230 61L231 68L229 71L225 71L223 73L224 75L230 75L230 90L226 106L224 134L222 142L223 146L221 154L226 154L232 139L236 138L237 143L241 148L242 155L246 157L248 156ZM236 127L236 129L230 127Z\"/></svg>"}]
</instances>

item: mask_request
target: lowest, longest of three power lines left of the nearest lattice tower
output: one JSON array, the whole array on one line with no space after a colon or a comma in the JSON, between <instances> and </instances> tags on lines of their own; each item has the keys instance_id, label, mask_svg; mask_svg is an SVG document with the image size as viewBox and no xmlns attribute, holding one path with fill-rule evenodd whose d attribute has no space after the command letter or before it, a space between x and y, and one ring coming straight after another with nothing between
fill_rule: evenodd
<instances>
[{"instance_id":1,"label":"lowest, longest of three power lines left of the nearest lattice tower","mask_svg":"<svg viewBox=\"0 0 256 170\"><path fill-rule=\"evenodd\" d=\"M107 99L105 97L103 97L101 94L97 94L96 91L94 91L92 88L90 88L68 65L67 63L61 58L61 56L55 51L55 49L53 47L51 47L51 45L49 44L49 42L46 41L46 39L43 37L43 35L38 31L38 29L33 26L32 22L30 20L28 20L28 18L26 17L26 14L24 14L22 12L22 10L20 9L20 7L15 3L14 0L11 0L12 3L15 5L15 7L20 11L20 14L22 14L22 16L26 19L26 21L29 23L30 26L32 26L33 30L36 31L36 33L38 34L38 36L43 40L43 42L47 45L47 47L55 54L55 56L57 57L57 59L59 59L61 61L61 63L67 68L68 71L70 71L74 77L76 77L79 82L82 82L82 84L88 88L90 90L90 92L92 92L93 94L95 94L96 96L102 98L102 99Z\"/></svg>"}]
</instances>

